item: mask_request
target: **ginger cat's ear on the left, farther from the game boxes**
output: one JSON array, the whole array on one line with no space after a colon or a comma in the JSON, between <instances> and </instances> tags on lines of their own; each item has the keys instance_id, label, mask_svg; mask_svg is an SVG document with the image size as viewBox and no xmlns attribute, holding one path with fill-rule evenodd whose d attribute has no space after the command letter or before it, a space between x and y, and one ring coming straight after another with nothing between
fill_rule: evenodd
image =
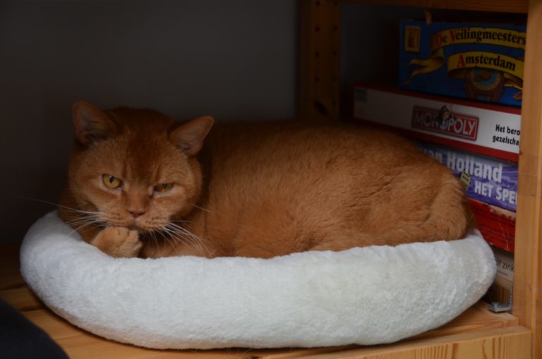
<instances>
[{"instance_id":1,"label":"ginger cat's ear on the left, farther from the game boxes","mask_svg":"<svg viewBox=\"0 0 542 359\"><path fill-rule=\"evenodd\" d=\"M115 123L93 104L76 102L72 107L72 115L76 139L83 145L116 134Z\"/></svg>"}]
</instances>

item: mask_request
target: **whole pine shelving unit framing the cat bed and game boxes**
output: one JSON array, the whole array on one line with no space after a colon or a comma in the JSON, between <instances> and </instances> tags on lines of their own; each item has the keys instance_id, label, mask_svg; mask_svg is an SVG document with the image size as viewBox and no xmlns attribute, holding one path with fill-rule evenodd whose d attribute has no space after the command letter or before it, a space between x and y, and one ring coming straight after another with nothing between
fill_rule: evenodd
<instances>
[{"instance_id":1,"label":"whole pine shelving unit framing the cat bed and game boxes","mask_svg":"<svg viewBox=\"0 0 542 359\"><path fill-rule=\"evenodd\" d=\"M542 0L300 0L299 115L340 116L343 2L465 11L527 13L527 49L519 156L514 315L478 303L454 321L386 346L255 351L155 351L107 341L73 327L44 308L18 273L18 247L0 252L0 298L42 327L71 358L517 358L542 359Z\"/></svg>"}]
</instances>

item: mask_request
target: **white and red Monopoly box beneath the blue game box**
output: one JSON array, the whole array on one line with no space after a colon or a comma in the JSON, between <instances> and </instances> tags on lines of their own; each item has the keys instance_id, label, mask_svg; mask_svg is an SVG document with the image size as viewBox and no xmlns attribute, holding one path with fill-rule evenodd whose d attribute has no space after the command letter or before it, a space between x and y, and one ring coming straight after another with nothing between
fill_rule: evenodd
<instances>
[{"instance_id":1,"label":"white and red Monopoly box beneath the blue game box","mask_svg":"<svg viewBox=\"0 0 542 359\"><path fill-rule=\"evenodd\" d=\"M519 156L521 115L515 107L358 83L354 119L507 161Z\"/></svg>"}]
</instances>

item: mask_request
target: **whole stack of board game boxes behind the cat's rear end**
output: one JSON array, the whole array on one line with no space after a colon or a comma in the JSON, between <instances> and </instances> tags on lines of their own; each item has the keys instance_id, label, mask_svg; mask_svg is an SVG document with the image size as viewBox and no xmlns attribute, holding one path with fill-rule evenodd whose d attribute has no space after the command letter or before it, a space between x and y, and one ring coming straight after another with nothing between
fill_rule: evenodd
<instances>
[{"instance_id":1,"label":"whole stack of board game boxes behind the cat's rear end","mask_svg":"<svg viewBox=\"0 0 542 359\"><path fill-rule=\"evenodd\" d=\"M459 178L510 303L525 26L400 24L399 86L354 85L354 119L413 139Z\"/></svg>"}]
</instances>

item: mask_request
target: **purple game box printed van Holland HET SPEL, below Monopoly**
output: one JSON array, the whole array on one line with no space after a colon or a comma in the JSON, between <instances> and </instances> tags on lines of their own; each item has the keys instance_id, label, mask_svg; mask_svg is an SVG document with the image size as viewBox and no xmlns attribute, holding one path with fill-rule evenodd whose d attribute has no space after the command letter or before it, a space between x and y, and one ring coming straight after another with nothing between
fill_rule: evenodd
<instances>
[{"instance_id":1,"label":"purple game box printed van Holland HET SPEL, below Monopoly","mask_svg":"<svg viewBox=\"0 0 542 359\"><path fill-rule=\"evenodd\" d=\"M516 212L517 163L427 142L415 144L451 169L468 197Z\"/></svg>"}]
</instances>

